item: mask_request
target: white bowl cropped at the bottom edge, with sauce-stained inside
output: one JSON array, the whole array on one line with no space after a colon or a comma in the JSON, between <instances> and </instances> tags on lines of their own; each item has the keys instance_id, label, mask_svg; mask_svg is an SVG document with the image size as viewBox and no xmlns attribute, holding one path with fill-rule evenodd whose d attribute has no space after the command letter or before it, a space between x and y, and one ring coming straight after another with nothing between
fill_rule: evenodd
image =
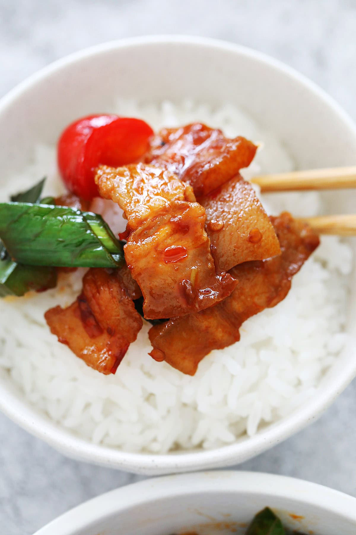
<instances>
[{"instance_id":1,"label":"white bowl cropped at the bottom edge, with sauce-stained inside","mask_svg":"<svg viewBox=\"0 0 356 535\"><path fill-rule=\"evenodd\" d=\"M246 533L269 506L283 525L314 535L354 535L356 499L299 479L257 472L166 476L102 494L35 535L200 535Z\"/></svg>"}]
</instances>

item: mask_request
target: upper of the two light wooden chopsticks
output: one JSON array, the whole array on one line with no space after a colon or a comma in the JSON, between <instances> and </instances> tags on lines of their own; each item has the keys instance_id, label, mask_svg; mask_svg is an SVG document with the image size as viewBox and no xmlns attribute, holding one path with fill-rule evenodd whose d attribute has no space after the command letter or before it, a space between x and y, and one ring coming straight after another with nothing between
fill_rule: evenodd
<instances>
[{"instance_id":1,"label":"upper of the two light wooden chopsticks","mask_svg":"<svg viewBox=\"0 0 356 535\"><path fill-rule=\"evenodd\" d=\"M307 189L356 188L356 166L261 174L251 179L261 191L287 192Z\"/></svg>"}]
</instances>

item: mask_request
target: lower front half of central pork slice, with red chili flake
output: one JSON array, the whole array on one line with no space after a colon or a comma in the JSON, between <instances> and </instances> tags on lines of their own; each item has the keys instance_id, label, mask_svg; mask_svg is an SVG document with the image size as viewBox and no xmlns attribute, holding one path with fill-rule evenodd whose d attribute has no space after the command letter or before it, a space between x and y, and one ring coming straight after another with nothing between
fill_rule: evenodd
<instances>
[{"instance_id":1,"label":"lower front half of central pork slice, with red chili flake","mask_svg":"<svg viewBox=\"0 0 356 535\"><path fill-rule=\"evenodd\" d=\"M199 204L176 202L170 214L147 221L130 234L125 259L143 293L145 318L202 310L235 288L230 274L215 272L204 221Z\"/></svg>"}]
</instances>

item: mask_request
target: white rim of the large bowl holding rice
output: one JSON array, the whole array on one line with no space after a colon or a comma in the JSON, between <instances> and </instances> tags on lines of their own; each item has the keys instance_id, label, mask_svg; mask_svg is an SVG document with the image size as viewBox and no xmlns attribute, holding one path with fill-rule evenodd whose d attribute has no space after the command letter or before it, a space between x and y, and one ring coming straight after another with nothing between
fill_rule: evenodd
<instances>
[{"instance_id":1,"label":"white rim of the large bowl holding rice","mask_svg":"<svg viewBox=\"0 0 356 535\"><path fill-rule=\"evenodd\" d=\"M187 35L151 35L109 41L58 59L22 81L10 93L5 95L0 100L0 116L8 106L12 105L29 89L39 85L51 77L52 74L65 69L68 65L80 63L86 58L100 56L113 50L141 47L148 44L186 44L197 48L203 47L205 49L233 52L236 55L254 61L257 60L257 62L271 67L276 72L282 72L299 86L313 93L320 101L323 101L343 121L349 129L350 136L354 138L356 147L356 125L352 119L333 98L303 74L262 52L226 41ZM288 417L266 426L258 431L254 437L238 439L232 444L212 450L189 450L181 453L131 453L93 444L51 421L49 417L37 412L35 407L29 406L22 396L14 394L1 386L0 410L23 429L37 438L41 438L69 457L111 468L146 473L147 475L164 474L228 466L236 462L243 462L262 453L311 423L337 398L355 376L356 361L353 362L350 359L327 390L319 391L318 395L315 395L312 402L308 403L307 406L297 408Z\"/></svg>"}]
</instances>

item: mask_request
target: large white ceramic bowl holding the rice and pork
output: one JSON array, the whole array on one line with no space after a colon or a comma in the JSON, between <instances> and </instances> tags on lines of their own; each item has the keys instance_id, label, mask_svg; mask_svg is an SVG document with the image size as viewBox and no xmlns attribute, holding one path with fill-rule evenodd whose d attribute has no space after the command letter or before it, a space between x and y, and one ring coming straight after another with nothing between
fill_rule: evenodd
<instances>
[{"instance_id":1,"label":"large white ceramic bowl holding the rice and pork","mask_svg":"<svg viewBox=\"0 0 356 535\"><path fill-rule=\"evenodd\" d=\"M117 95L212 105L232 102L283 140L301 169L356 163L356 129L323 91L275 60L233 44L193 37L143 37L100 45L62 59L0 102L0 187L23 169L35 142L56 142L74 118L110 110ZM334 192L330 213L354 211L354 192ZM351 291L349 348L307 404L252 438L210 451L125 453L75 437L29 406L0 377L0 408L60 452L82 461L147 474L217 468L263 452L320 415L356 375L356 285Z\"/></svg>"}]
</instances>

